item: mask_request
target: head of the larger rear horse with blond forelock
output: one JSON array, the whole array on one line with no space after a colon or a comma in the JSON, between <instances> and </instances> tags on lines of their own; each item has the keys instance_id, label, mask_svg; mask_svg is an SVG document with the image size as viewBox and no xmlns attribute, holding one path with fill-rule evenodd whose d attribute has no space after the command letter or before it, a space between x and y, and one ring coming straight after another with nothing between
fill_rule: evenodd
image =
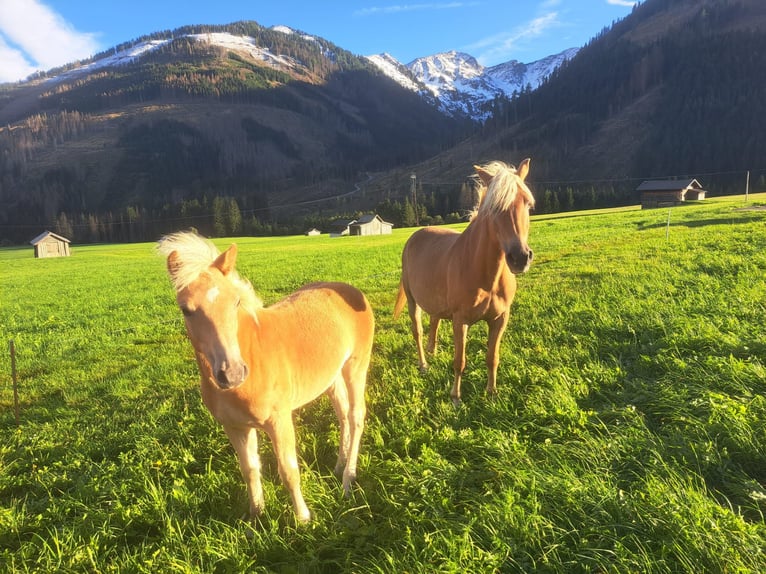
<instances>
[{"instance_id":1,"label":"head of the larger rear horse with blond forelock","mask_svg":"<svg viewBox=\"0 0 766 574\"><path fill-rule=\"evenodd\" d=\"M518 169L502 162L474 166L474 169L485 187L479 215L492 221L508 268L513 273L524 273L533 258L527 237L529 210L535 200L524 183L529 173L529 159L522 161Z\"/></svg>"}]
</instances>

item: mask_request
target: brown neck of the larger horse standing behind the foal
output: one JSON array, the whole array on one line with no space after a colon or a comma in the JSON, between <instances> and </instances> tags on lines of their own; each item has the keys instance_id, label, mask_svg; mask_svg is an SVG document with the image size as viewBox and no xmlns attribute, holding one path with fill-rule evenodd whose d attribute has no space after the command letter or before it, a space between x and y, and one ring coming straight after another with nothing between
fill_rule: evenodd
<instances>
[{"instance_id":1,"label":"brown neck of the larger horse standing behind the foal","mask_svg":"<svg viewBox=\"0 0 766 574\"><path fill-rule=\"evenodd\" d=\"M481 219L479 219L481 218ZM492 229L492 222L479 215L459 238L471 276L485 289L496 290L507 270L505 252ZM468 270L466 270L468 271Z\"/></svg>"}]
</instances>

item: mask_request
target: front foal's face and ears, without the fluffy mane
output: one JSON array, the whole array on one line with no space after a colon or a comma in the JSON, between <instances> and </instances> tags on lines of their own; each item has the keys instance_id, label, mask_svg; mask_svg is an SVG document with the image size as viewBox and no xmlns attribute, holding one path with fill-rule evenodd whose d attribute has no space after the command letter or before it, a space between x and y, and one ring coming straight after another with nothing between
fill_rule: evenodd
<instances>
[{"instance_id":1,"label":"front foal's face and ears, without the fluffy mane","mask_svg":"<svg viewBox=\"0 0 766 574\"><path fill-rule=\"evenodd\" d=\"M234 270L237 246L232 245L192 275L186 269L183 251L173 249L172 243L165 250L170 250L168 272L195 351L208 362L221 389L238 387L247 379L248 367L237 338L243 296L243 281Z\"/></svg>"}]
</instances>

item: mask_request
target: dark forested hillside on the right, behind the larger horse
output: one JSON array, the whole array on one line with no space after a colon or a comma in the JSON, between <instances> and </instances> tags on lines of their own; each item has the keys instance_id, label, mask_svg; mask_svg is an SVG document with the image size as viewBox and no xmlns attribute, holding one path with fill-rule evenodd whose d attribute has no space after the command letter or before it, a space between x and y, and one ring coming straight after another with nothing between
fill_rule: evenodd
<instances>
[{"instance_id":1,"label":"dark forested hillside on the right, behind the larger horse","mask_svg":"<svg viewBox=\"0 0 766 574\"><path fill-rule=\"evenodd\" d=\"M647 0L501 104L485 153L535 157L562 204L566 188L624 196L651 177L741 193L748 170L756 184L766 173L763 69L766 2Z\"/></svg>"}]
</instances>

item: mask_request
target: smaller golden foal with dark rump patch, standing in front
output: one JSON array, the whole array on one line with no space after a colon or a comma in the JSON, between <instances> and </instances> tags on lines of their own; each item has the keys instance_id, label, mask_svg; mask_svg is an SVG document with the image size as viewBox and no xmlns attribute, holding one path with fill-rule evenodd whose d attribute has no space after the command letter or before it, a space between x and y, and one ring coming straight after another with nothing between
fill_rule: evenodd
<instances>
[{"instance_id":1,"label":"smaller golden foal with dark rump patch, standing in front","mask_svg":"<svg viewBox=\"0 0 766 574\"><path fill-rule=\"evenodd\" d=\"M364 427L365 385L374 318L369 303L345 283L307 285L264 307L223 253L194 233L158 244L200 370L202 400L223 425L247 483L250 514L264 506L256 429L269 435L296 518L311 517L300 489L292 413L326 393L340 423L335 472L349 493Z\"/></svg>"}]
</instances>

